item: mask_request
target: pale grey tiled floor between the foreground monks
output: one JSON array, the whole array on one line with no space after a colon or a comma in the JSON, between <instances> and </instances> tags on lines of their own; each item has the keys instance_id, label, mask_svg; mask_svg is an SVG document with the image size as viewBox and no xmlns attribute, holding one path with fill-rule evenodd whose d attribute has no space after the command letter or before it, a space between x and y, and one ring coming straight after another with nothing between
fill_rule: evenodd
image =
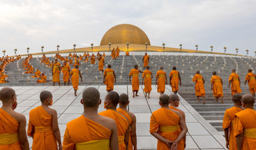
<instances>
[{"instance_id":1,"label":"pale grey tiled floor between the foreground monks","mask_svg":"<svg viewBox=\"0 0 256 150\"><path fill-rule=\"evenodd\" d=\"M12 87L18 94L18 107L16 111L23 113L28 122L29 111L41 105L39 94L43 90L53 93L53 105L51 108L57 110L60 134L63 138L65 124L70 120L82 115L83 108L80 104L82 91L91 86L79 86L78 96L75 97L72 86L26 86ZM104 100L107 91L105 86L93 86L100 91L100 98ZM117 93L129 94L129 110L137 117L137 147L138 149L156 149L157 140L149 134L149 122L151 113L159 109L159 93L156 86L152 86L151 98L144 97L142 86L139 89L139 96L132 98L132 86L114 86ZM166 94L171 94L170 86L166 86ZM0 103L1 106L1 103ZM186 149L225 149L225 139L206 120L194 110L186 100L181 98L179 106L186 113L188 133L186 138ZM100 105L99 112L105 110ZM29 137L30 145L32 139Z\"/></svg>"}]
</instances>

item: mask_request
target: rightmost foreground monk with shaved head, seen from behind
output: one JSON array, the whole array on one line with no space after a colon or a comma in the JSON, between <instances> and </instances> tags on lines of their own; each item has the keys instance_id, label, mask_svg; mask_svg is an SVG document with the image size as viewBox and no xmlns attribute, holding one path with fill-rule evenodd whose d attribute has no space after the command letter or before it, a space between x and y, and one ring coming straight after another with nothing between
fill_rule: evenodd
<instances>
[{"instance_id":1,"label":"rightmost foreground monk with shaved head, seen from behind","mask_svg":"<svg viewBox=\"0 0 256 150\"><path fill-rule=\"evenodd\" d=\"M242 96L245 110L235 114L235 139L238 150L256 149L256 111L253 109L255 97L250 94Z\"/></svg>"}]
</instances>

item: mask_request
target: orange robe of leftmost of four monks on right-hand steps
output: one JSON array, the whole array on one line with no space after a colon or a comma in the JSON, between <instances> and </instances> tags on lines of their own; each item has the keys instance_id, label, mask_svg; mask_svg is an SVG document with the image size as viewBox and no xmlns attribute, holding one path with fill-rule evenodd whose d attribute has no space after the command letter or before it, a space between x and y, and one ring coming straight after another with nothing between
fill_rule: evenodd
<instances>
[{"instance_id":1,"label":"orange robe of leftmost of four monks on right-hand steps","mask_svg":"<svg viewBox=\"0 0 256 150\"><path fill-rule=\"evenodd\" d=\"M195 74L192 81L196 82L196 86L195 86L196 96L206 96L206 91L203 85L203 76L201 76L200 74Z\"/></svg>"}]
</instances>

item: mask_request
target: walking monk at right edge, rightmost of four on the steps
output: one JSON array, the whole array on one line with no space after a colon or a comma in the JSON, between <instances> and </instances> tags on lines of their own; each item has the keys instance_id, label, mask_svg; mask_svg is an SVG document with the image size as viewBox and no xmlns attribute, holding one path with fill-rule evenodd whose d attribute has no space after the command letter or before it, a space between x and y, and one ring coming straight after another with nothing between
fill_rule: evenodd
<instances>
[{"instance_id":1,"label":"walking monk at right edge, rightmost of four on the steps","mask_svg":"<svg viewBox=\"0 0 256 150\"><path fill-rule=\"evenodd\" d=\"M256 92L256 80L255 80L255 74L252 73L252 69L248 69L248 74L245 76L245 85L248 81L248 86L250 89L250 93L252 96L255 96Z\"/></svg>"}]
</instances>

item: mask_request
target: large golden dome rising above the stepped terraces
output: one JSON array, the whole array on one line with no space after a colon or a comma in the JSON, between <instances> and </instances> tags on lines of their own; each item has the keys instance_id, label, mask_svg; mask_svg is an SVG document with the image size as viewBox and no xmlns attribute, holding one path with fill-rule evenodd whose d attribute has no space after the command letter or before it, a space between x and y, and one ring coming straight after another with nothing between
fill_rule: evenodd
<instances>
[{"instance_id":1,"label":"large golden dome rising above the stepped terraces","mask_svg":"<svg viewBox=\"0 0 256 150\"><path fill-rule=\"evenodd\" d=\"M142 29L135 25L120 24L107 30L107 33L102 37L100 45L114 44L138 44L145 45L147 42L150 45L149 38Z\"/></svg>"}]
</instances>

